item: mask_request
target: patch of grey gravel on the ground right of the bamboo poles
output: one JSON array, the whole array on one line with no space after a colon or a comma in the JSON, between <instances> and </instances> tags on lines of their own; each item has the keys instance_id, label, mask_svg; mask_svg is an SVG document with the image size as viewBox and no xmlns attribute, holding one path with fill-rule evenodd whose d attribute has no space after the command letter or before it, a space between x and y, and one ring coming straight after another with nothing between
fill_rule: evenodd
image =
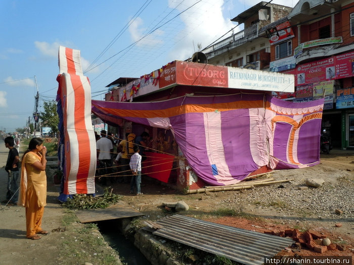
<instances>
[{"instance_id":1,"label":"patch of grey gravel on the ground right of the bamboo poles","mask_svg":"<svg viewBox=\"0 0 354 265\"><path fill-rule=\"evenodd\" d=\"M283 188L280 188L282 187ZM281 185L255 187L235 193L221 204L231 208L243 209L247 206L251 211L276 211L284 216L298 216L299 218L320 219L349 219L354 218L353 182L347 179L333 184L325 182L319 188L304 186L304 181L290 181ZM336 214L339 209L343 213Z\"/></svg>"}]
</instances>

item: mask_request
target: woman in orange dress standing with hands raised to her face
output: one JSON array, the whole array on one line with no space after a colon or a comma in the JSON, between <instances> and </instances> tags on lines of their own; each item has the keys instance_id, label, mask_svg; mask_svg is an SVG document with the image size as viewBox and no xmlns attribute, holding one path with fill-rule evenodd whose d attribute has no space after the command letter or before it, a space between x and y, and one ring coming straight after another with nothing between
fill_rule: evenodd
<instances>
[{"instance_id":1,"label":"woman in orange dress standing with hands raised to her face","mask_svg":"<svg viewBox=\"0 0 354 265\"><path fill-rule=\"evenodd\" d=\"M46 153L43 141L35 137L30 140L28 150L22 157L18 205L26 207L26 236L33 240L41 238L37 234L48 234L41 228L47 204Z\"/></svg>"}]
</instances>

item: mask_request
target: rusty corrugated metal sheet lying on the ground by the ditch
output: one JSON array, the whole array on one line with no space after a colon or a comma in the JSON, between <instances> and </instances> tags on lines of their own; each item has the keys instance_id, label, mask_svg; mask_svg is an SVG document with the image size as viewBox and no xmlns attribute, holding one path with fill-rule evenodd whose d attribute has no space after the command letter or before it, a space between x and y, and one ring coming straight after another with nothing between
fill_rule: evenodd
<instances>
[{"instance_id":1,"label":"rusty corrugated metal sheet lying on the ground by the ditch","mask_svg":"<svg viewBox=\"0 0 354 265\"><path fill-rule=\"evenodd\" d=\"M153 234L244 264L262 264L291 245L283 238L174 215L157 221L163 228Z\"/></svg>"}]
</instances>

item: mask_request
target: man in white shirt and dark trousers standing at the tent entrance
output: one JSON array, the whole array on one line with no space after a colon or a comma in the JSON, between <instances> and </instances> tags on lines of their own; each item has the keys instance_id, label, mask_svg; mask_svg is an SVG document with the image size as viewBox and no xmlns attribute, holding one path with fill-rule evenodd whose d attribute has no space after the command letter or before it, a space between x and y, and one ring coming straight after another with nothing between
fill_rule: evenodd
<instances>
[{"instance_id":1,"label":"man in white shirt and dark trousers standing at the tent entrance","mask_svg":"<svg viewBox=\"0 0 354 265\"><path fill-rule=\"evenodd\" d=\"M113 152L113 144L107 137L105 130L101 131L101 138L96 142L97 158L99 161L99 176L107 175L112 172L112 159L111 153ZM108 175L107 177L109 177ZM107 183L107 177L100 177L99 180L103 185ZM113 177L110 177L111 183L113 183Z\"/></svg>"}]
</instances>

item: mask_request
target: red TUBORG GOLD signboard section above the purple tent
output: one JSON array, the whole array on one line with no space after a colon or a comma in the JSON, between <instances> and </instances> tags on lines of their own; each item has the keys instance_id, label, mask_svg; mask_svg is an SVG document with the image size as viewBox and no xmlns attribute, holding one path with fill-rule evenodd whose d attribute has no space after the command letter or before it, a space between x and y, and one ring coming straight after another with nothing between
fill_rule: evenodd
<instances>
[{"instance_id":1,"label":"red TUBORG GOLD signboard section above the purple tent","mask_svg":"<svg viewBox=\"0 0 354 265\"><path fill-rule=\"evenodd\" d=\"M228 68L198 63L176 62L181 85L229 87Z\"/></svg>"}]
</instances>

